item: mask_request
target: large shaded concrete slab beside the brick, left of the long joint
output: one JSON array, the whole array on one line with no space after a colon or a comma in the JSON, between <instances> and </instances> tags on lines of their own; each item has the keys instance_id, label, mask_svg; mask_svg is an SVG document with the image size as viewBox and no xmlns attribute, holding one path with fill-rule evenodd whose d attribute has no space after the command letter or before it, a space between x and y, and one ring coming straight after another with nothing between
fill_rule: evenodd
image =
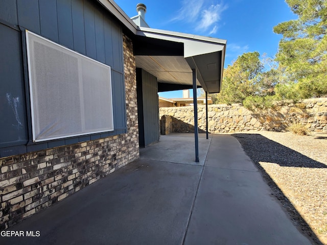
<instances>
[{"instance_id":1,"label":"large shaded concrete slab beside the brick, left of the long joint","mask_svg":"<svg viewBox=\"0 0 327 245\"><path fill-rule=\"evenodd\" d=\"M181 244L202 167L137 160L9 230L0 244Z\"/></svg>"}]
</instances>

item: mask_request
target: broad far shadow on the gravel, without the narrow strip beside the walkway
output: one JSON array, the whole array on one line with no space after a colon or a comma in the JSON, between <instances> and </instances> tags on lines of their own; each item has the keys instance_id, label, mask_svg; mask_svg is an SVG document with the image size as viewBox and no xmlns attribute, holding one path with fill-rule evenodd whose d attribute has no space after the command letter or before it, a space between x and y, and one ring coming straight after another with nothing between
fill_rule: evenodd
<instances>
[{"instance_id":1,"label":"broad far shadow on the gravel, without the narrow strip beside the walkway","mask_svg":"<svg viewBox=\"0 0 327 245\"><path fill-rule=\"evenodd\" d=\"M232 134L255 162L273 162L283 167L327 168L327 165L300 154L261 134ZM255 148L253 146L255 145Z\"/></svg>"}]
</instances>

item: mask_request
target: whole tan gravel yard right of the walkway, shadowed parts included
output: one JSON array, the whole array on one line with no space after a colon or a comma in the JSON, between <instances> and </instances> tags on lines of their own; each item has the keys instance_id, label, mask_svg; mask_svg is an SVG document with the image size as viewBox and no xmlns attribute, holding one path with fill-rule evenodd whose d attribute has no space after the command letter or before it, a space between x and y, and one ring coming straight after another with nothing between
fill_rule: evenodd
<instances>
[{"instance_id":1,"label":"whole tan gravel yard right of the walkway, shadowed parts included","mask_svg":"<svg viewBox=\"0 0 327 245\"><path fill-rule=\"evenodd\" d=\"M272 194L314 244L327 245L327 134L235 133Z\"/></svg>"}]
</instances>

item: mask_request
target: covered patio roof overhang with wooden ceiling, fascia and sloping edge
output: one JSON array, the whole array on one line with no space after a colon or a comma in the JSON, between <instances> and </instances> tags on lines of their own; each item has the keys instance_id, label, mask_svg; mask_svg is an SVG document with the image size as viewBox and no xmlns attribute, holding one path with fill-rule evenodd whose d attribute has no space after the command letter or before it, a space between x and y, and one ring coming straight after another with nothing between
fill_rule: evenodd
<instances>
[{"instance_id":1,"label":"covered patio roof overhang with wooden ceiling, fascia and sloping edge","mask_svg":"<svg viewBox=\"0 0 327 245\"><path fill-rule=\"evenodd\" d=\"M136 67L157 78L159 91L191 88L196 69L198 86L220 92L226 40L137 27L114 1L98 1L133 34Z\"/></svg>"}]
</instances>

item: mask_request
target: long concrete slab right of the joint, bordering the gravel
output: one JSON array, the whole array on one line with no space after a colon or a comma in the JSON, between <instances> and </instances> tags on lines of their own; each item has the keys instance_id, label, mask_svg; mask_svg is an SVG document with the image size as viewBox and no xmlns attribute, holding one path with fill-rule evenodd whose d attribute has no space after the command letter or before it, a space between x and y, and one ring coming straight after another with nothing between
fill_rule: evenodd
<instances>
[{"instance_id":1,"label":"long concrete slab right of the joint, bordering the gravel","mask_svg":"<svg viewBox=\"0 0 327 245\"><path fill-rule=\"evenodd\" d=\"M219 141L235 152L222 155ZM184 244L310 244L237 144L213 137Z\"/></svg>"}]
</instances>

